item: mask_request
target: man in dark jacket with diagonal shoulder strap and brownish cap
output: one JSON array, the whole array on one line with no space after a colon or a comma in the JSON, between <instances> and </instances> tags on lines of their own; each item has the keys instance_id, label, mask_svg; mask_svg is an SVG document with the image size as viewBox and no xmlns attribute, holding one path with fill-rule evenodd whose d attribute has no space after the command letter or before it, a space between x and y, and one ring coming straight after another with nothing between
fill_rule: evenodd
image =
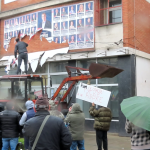
<instances>
[{"instance_id":1,"label":"man in dark jacket with diagonal shoulder strap and brownish cap","mask_svg":"<svg viewBox=\"0 0 150 150\"><path fill-rule=\"evenodd\" d=\"M40 97L36 100L35 117L24 124L23 133L29 137L29 150L32 149L39 128L47 115L49 115L49 102L47 98ZM50 116L47 120L35 150L69 150L71 145L71 134L62 119Z\"/></svg>"}]
</instances>

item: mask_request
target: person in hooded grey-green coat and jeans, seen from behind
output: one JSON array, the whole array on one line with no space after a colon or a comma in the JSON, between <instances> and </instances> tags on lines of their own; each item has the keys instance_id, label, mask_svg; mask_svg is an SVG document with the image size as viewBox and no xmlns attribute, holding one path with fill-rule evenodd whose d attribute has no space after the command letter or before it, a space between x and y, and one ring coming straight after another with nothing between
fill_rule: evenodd
<instances>
[{"instance_id":1,"label":"person in hooded grey-green coat and jeans, seen from behind","mask_svg":"<svg viewBox=\"0 0 150 150\"><path fill-rule=\"evenodd\" d=\"M84 123L85 116L78 103L74 103L70 112L65 118L65 122L69 123L70 132L72 135L72 145L70 150L85 150L84 148Z\"/></svg>"}]
</instances>

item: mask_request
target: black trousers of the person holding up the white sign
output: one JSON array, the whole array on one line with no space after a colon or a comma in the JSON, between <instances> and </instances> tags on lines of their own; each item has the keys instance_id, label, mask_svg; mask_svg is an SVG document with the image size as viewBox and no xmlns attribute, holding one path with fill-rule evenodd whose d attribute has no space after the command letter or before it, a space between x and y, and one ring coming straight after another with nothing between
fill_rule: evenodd
<instances>
[{"instance_id":1,"label":"black trousers of the person holding up the white sign","mask_svg":"<svg viewBox=\"0 0 150 150\"><path fill-rule=\"evenodd\" d=\"M98 150L102 150L102 141L103 149L108 150L107 131L96 130L96 143L98 146Z\"/></svg>"}]
</instances>

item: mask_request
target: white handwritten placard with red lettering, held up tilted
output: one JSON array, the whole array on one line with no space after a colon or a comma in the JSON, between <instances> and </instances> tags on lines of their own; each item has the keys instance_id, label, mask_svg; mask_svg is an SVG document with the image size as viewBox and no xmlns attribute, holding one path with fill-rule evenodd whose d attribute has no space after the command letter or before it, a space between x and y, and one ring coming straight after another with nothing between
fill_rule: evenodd
<instances>
[{"instance_id":1,"label":"white handwritten placard with red lettering, held up tilted","mask_svg":"<svg viewBox=\"0 0 150 150\"><path fill-rule=\"evenodd\" d=\"M76 98L107 107L110 94L110 91L80 83Z\"/></svg>"}]
</instances>

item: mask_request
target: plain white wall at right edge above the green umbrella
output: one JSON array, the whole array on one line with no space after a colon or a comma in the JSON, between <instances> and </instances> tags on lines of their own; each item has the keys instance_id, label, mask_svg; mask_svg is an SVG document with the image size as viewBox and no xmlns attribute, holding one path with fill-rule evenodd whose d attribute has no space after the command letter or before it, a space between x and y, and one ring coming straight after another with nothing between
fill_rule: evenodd
<instances>
[{"instance_id":1,"label":"plain white wall at right edge above the green umbrella","mask_svg":"<svg viewBox=\"0 0 150 150\"><path fill-rule=\"evenodd\" d=\"M150 97L150 60L136 57L137 96Z\"/></svg>"}]
</instances>

